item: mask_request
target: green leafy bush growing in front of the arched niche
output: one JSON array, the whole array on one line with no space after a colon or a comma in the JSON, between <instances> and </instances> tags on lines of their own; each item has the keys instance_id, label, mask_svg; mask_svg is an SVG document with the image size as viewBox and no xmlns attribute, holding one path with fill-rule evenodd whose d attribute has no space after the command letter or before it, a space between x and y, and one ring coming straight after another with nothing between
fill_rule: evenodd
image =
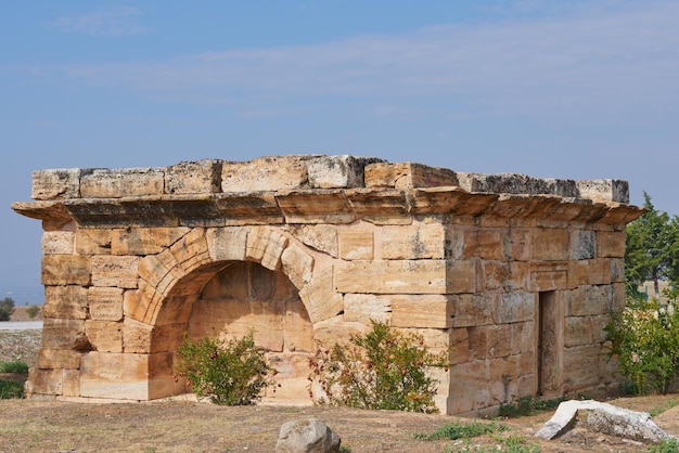
<instances>
[{"instance_id":1,"label":"green leafy bush growing in front of the arched niche","mask_svg":"<svg viewBox=\"0 0 679 453\"><path fill-rule=\"evenodd\" d=\"M261 398L261 390L273 385L276 372L255 346L254 333L228 342L205 337L184 337L178 349L175 381L187 378L187 386L198 397L221 405L248 405Z\"/></svg>"}]
</instances>

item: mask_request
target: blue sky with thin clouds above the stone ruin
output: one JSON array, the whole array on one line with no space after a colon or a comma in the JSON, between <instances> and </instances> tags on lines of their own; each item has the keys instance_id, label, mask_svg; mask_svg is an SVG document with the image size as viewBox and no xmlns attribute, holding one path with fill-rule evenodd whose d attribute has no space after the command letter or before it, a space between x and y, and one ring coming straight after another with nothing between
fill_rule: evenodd
<instances>
[{"instance_id":1,"label":"blue sky with thin clouds above the stone ruin","mask_svg":"<svg viewBox=\"0 0 679 453\"><path fill-rule=\"evenodd\" d=\"M0 5L0 297L41 297L33 170L289 153L625 179L679 213L679 2Z\"/></svg>"}]
</instances>

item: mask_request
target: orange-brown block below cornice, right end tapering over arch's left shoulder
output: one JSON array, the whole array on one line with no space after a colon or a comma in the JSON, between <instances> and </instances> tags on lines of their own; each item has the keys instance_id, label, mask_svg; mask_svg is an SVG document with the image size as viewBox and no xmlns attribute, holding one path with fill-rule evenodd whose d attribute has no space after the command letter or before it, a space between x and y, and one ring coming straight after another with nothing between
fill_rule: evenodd
<instances>
[{"instance_id":1,"label":"orange-brown block below cornice, right end tapering over arch's left shoulder","mask_svg":"<svg viewBox=\"0 0 679 453\"><path fill-rule=\"evenodd\" d=\"M177 228L127 228L111 231L111 253L113 255L154 255L175 244L190 231Z\"/></svg>"}]
</instances>

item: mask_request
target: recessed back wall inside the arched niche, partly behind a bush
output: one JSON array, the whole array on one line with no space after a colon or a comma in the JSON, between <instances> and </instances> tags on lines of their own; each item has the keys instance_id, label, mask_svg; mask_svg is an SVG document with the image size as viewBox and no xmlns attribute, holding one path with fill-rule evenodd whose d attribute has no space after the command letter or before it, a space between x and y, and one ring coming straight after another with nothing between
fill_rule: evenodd
<instances>
[{"instance_id":1,"label":"recessed back wall inside the arched niche, partly behind a bush","mask_svg":"<svg viewBox=\"0 0 679 453\"><path fill-rule=\"evenodd\" d=\"M187 334L242 338L254 329L280 387L266 399L308 402L308 359L313 353L313 326L297 288L283 272L253 261L234 261L217 272L193 303ZM276 390L276 391L273 391Z\"/></svg>"}]
</instances>

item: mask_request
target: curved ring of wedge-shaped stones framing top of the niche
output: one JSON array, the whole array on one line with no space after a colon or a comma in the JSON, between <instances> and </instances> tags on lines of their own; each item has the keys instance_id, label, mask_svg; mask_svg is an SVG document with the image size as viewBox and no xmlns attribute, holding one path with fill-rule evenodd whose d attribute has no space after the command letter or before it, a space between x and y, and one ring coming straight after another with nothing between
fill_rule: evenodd
<instances>
[{"instance_id":1,"label":"curved ring of wedge-shaped stones framing top of the niche","mask_svg":"<svg viewBox=\"0 0 679 453\"><path fill-rule=\"evenodd\" d=\"M204 283L201 274L213 275L220 263L230 261L255 261L283 272L299 290L313 324L344 310L331 266L315 269L312 251L277 228L258 225L195 228L159 254L144 257L137 298L126 314L149 325L181 322L163 311L170 302L181 301L190 286Z\"/></svg>"}]
</instances>

